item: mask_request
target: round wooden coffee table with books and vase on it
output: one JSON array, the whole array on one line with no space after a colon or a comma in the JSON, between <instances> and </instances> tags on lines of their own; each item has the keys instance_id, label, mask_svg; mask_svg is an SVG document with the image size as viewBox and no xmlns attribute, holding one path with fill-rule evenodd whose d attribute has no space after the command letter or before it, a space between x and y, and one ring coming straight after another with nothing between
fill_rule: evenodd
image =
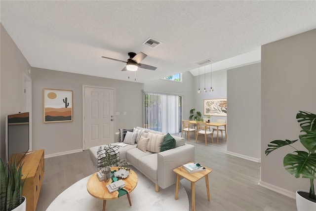
<instances>
[{"instance_id":1,"label":"round wooden coffee table with books and vase on it","mask_svg":"<svg viewBox=\"0 0 316 211\"><path fill-rule=\"evenodd\" d=\"M112 167L111 170L118 170L118 167ZM129 202L129 206L132 206L132 203L130 201L129 193L132 192L138 182L138 177L135 171L132 169L130 170L129 175L127 178L122 179L125 182L125 187L124 189L127 191L127 199ZM100 181L97 172L92 174L92 176L89 178L87 182L87 190L89 194L97 199L102 199L103 200L103 211L105 211L105 206L107 203L107 200L112 200L112 199L118 199L118 191L114 191L113 193L110 193L108 191L107 185L110 184L112 180L105 182L105 181Z\"/></svg>"}]
</instances>

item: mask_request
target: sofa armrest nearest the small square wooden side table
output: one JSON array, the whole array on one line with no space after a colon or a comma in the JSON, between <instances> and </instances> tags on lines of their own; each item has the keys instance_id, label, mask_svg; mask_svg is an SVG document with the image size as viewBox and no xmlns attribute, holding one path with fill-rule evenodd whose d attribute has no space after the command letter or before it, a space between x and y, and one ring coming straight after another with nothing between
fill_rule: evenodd
<instances>
[{"instance_id":1,"label":"sofa armrest nearest the small square wooden side table","mask_svg":"<svg viewBox=\"0 0 316 211\"><path fill-rule=\"evenodd\" d=\"M195 147L191 144L158 153L157 178L159 187L164 189L176 183L177 175L173 169L192 161L195 161Z\"/></svg>"}]
</instances>

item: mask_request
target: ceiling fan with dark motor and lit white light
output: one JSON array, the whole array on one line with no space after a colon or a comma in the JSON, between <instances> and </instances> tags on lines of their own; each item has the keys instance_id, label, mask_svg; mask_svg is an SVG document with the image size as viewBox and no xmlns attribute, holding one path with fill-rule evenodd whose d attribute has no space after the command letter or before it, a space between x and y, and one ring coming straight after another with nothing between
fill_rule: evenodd
<instances>
[{"instance_id":1,"label":"ceiling fan with dark motor and lit white light","mask_svg":"<svg viewBox=\"0 0 316 211\"><path fill-rule=\"evenodd\" d=\"M102 58L111 59L111 60L114 60L114 61L126 63L126 66L122 69L122 71L126 71L126 70L137 71L138 68L143 68L143 69L148 69L148 70L156 70L157 69L157 67L140 63L147 56L143 52L140 52L140 53L137 53L137 54L133 53L133 52L129 52L128 55L129 55L129 59L127 59L127 61L122 61L122 60L119 60L119 59L109 58L109 57L105 57L105 56L102 56Z\"/></svg>"}]
</instances>

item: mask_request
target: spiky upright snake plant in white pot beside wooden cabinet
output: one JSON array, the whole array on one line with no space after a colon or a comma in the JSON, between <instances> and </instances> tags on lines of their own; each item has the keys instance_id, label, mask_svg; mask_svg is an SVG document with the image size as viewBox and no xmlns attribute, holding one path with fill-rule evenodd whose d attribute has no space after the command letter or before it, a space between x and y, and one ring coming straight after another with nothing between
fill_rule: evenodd
<instances>
[{"instance_id":1,"label":"spiky upright snake plant in white pot beside wooden cabinet","mask_svg":"<svg viewBox=\"0 0 316 211\"><path fill-rule=\"evenodd\" d=\"M22 182L22 167L17 168L16 162L0 165L0 210L26 211L26 199L22 196L25 180Z\"/></svg>"}]
</instances>

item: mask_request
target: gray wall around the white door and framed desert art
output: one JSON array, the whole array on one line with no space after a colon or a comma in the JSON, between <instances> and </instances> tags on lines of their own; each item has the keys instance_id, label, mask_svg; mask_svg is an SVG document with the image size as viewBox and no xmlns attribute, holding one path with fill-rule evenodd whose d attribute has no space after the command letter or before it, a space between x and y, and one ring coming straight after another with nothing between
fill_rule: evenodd
<instances>
[{"instance_id":1,"label":"gray wall around the white door and framed desert art","mask_svg":"<svg viewBox=\"0 0 316 211\"><path fill-rule=\"evenodd\" d=\"M45 149L45 155L82 149L82 84L115 88L116 132L142 126L143 84L40 68L32 68L32 84L33 149ZM73 90L73 122L43 123L43 88Z\"/></svg>"}]
</instances>

